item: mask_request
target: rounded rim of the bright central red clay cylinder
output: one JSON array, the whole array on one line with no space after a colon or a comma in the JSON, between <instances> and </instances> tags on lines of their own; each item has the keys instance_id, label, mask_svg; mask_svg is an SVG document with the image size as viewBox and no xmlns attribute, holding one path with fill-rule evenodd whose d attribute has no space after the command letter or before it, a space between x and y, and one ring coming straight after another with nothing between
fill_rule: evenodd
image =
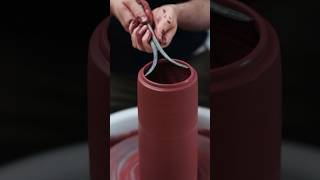
<instances>
[{"instance_id":1,"label":"rounded rim of the bright central red clay cylinder","mask_svg":"<svg viewBox=\"0 0 320 180\"><path fill-rule=\"evenodd\" d=\"M147 87L149 87L153 90L156 90L156 91L175 91L178 89L183 89L183 88L187 88L189 86L192 86L193 83L197 81L196 70L190 64L186 63L185 61L177 60L177 59L175 59L175 60L188 67L188 69L186 69L186 70L188 70L190 72L190 74L184 80L176 82L176 83L162 84L162 83L157 83L157 82L154 82L154 81L148 79L148 77L145 76L145 72L152 65L152 62L147 63L145 66L143 66L143 68L140 69L139 74L138 74L138 80L144 86L147 86ZM163 64L163 63L170 63L170 62L168 62L164 59L161 59L158 62L157 66L161 66L161 64ZM157 67L154 71L157 71Z\"/></svg>"}]
</instances>

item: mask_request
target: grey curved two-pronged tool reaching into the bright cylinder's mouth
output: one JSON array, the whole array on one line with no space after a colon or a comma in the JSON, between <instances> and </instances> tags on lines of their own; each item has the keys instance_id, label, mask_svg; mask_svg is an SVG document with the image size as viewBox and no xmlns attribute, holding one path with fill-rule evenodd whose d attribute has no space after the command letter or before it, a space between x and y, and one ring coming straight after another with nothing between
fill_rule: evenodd
<instances>
[{"instance_id":1,"label":"grey curved two-pronged tool reaching into the bright cylinder's mouth","mask_svg":"<svg viewBox=\"0 0 320 180\"><path fill-rule=\"evenodd\" d=\"M153 51L153 61L152 61L152 65L149 68L148 72L145 74L145 76L149 75L157 66L158 63L158 51L163 55L163 57L168 60L169 62L171 62L172 64L175 64L176 66L182 67L182 68L186 68L188 69L189 67L181 64L179 62L177 62L176 60L172 59L161 47L152 27L150 24L147 25L148 29L150 30L150 32L152 33L152 40L150 42L151 47L152 47L152 51Z\"/></svg>"}]
</instances>

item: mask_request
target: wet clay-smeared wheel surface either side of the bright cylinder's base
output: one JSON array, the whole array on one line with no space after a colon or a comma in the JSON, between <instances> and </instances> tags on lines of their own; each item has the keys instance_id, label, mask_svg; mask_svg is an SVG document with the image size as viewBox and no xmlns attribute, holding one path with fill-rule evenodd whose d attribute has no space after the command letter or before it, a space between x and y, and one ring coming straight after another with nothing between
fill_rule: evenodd
<instances>
[{"instance_id":1,"label":"wet clay-smeared wheel surface either side of the bright cylinder's base","mask_svg":"<svg viewBox=\"0 0 320 180\"><path fill-rule=\"evenodd\" d=\"M202 131L204 132L204 131ZM209 133L208 133L209 134ZM112 140L111 140L112 142ZM113 142L113 144L115 144ZM166 156L166 154L159 154ZM156 163L156 162L155 162ZM110 180L140 180L138 136L127 137L111 147ZM174 170L173 173L177 171ZM197 180L210 179L210 139L198 136L198 177Z\"/></svg>"}]
</instances>

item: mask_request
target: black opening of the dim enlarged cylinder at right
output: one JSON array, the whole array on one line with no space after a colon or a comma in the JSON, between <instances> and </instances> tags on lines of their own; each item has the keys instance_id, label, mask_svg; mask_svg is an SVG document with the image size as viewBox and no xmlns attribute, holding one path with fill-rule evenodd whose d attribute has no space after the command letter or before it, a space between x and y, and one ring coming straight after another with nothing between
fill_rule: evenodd
<instances>
[{"instance_id":1,"label":"black opening of the dim enlarged cylinder at right","mask_svg":"<svg viewBox=\"0 0 320 180\"><path fill-rule=\"evenodd\" d=\"M213 21L212 68L231 64L249 54L259 41L255 21L240 22L216 15Z\"/></svg>"}]
</instances>

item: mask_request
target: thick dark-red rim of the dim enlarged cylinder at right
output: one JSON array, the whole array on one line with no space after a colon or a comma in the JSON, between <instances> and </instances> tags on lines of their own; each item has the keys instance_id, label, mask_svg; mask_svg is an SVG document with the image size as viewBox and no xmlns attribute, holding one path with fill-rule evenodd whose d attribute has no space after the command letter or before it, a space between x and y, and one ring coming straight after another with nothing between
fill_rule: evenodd
<instances>
[{"instance_id":1,"label":"thick dark-red rim of the dim enlarged cylinder at right","mask_svg":"<svg viewBox=\"0 0 320 180\"><path fill-rule=\"evenodd\" d=\"M272 65L280 54L278 37L273 27L256 11L239 1L217 1L250 16L255 23L259 39L256 46L246 56L230 64L211 69L211 91L213 92L231 89L255 80Z\"/></svg>"}]
</instances>

